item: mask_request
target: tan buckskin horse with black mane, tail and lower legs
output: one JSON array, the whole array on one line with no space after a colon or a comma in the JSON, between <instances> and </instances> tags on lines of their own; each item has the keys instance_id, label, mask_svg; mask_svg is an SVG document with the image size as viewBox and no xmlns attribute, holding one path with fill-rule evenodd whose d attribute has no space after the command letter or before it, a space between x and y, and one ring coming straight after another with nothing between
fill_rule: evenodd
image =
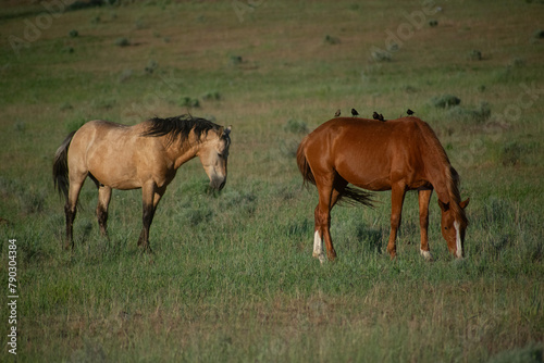
<instances>
[{"instance_id":1,"label":"tan buckskin horse with black mane, tail and lower legs","mask_svg":"<svg viewBox=\"0 0 544 363\"><path fill-rule=\"evenodd\" d=\"M134 126L90 121L71 133L57 150L53 163L55 188L66 199L66 248L74 248L77 198L88 176L98 188L96 214L104 237L112 189L141 188L144 227L138 246L151 252L149 227L157 204L182 164L199 157L210 187L224 187L230 133L231 127L190 115L156 117Z\"/></svg>"}]
</instances>

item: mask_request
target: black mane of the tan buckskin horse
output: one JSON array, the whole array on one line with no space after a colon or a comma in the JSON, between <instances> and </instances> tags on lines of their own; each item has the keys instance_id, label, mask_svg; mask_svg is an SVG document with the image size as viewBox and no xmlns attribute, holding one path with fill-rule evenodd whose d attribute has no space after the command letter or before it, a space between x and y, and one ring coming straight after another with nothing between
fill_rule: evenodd
<instances>
[{"instance_id":1,"label":"black mane of the tan buckskin horse","mask_svg":"<svg viewBox=\"0 0 544 363\"><path fill-rule=\"evenodd\" d=\"M219 130L221 127L209 120L194 117L189 114L168 118L153 117L149 122L149 128L141 136L166 136L169 145L177 139L185 141L191 130L199 141L202 134L208 135L209 130Z\"/></svg>"}]
</instances>

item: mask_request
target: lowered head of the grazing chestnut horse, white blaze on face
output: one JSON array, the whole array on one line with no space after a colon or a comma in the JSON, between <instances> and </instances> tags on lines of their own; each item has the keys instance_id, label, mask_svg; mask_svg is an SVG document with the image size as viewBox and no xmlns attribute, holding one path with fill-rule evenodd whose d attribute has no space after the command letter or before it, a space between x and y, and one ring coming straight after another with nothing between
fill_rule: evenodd
<instances>
[{"instance_id":1,"label":"lowered head of the grazing chestnut horse, white blaze on face","mask_svg":"<svg viewBox=\"0 0 544 363\"><path fill-rule=\"evenodd\" d=\"M465 216L465 208L469 204L470 198L457 205L455 201L444 203L438 199L438 205L442 210L442 236L447 242L449 252L456 258L465 256L465 230L467 229L467 217Z\"/></svg>"}]
</instances>

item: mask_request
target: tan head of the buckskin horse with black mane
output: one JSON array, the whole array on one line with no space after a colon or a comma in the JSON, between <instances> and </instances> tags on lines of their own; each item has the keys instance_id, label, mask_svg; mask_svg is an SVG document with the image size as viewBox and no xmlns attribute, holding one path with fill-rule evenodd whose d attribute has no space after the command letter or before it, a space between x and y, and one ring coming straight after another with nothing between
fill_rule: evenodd
<instances>
[{"instance_id":1,"label":"tan head of the buckskin horse with black mane","mask_svg":"<svg viewBox=\"0 0 544 363\"><path fill-rule=\"evenodd\" d=\"M226 163L231 146L231 126L210 130L200 146L198 157L210 178L210 187L221 190L226 183Z\"/></svg>"}]
</instances>

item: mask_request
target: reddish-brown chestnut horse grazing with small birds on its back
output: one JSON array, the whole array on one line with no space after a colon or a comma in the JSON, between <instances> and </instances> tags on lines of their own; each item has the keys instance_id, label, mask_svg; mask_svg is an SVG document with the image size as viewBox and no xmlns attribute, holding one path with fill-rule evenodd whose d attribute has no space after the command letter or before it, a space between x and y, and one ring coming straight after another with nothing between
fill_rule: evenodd
<instances>
[{"instance_id":1,"label":"reddish-brown chestnut horse grazing with small birds on its back","mask_svg":"<svg viewBox=\"0 0 544 363\"><path fill-rule=\"evenodd\" d=\"M421 227L421 254L432 259L429 250L429 202L436 190L442 210L442 236L456 258L463 256L465 230L468 225L461 202L459 175L431 127L417 117L379 122L336 117L306 136L297 151L297 164L304 183L317 186L313 256L324 261L323 240L330 260L336 258L331 239L331 210L342 198L371 206L371 195L356 187L391 190L391 235L387 251L396 255L395 240L400 225L407 190L418 190Z\"/></svg>"}]
</instances>

